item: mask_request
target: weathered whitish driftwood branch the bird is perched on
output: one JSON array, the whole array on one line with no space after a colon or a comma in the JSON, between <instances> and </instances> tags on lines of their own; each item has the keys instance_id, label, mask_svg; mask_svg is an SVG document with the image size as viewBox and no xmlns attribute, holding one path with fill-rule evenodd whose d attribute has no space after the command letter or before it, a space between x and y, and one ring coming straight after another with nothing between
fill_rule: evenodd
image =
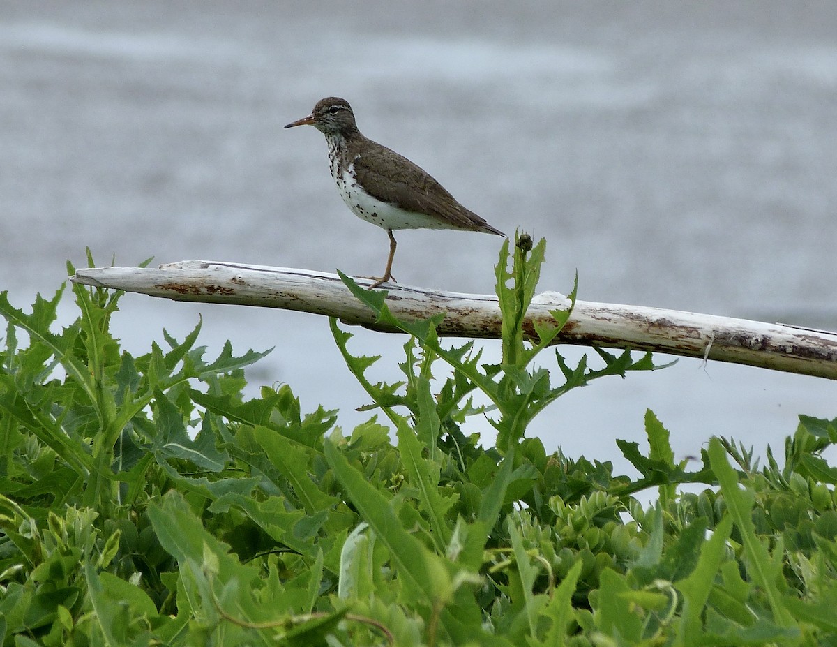
<instances>
[{"instance_id":1,"label":"weathered whitish driftwood branch the bird is perched on","mask_svg":"<svg viewBox=\"0 0 837 647\"><path fill-rule=\"evenodd\" d=\"M80 269L73 282L141 292L177 301L233 303L325 314L346 323L393 332L375 322L374 313L335 274L285 267L217 261L181 261L159 268ZM360 285L371 281L357 279ZM485 294L439 292L388 286L387 305L398 318L427 318L447 313L443 336L499 338L497 298ZM551 320L550 310L566 309L558 292L537 295L524 327ZM652 350L837 379L837 334L710 314L686 313L614 303L577 301L557 344Z\"/></svg>"}]
</instances>

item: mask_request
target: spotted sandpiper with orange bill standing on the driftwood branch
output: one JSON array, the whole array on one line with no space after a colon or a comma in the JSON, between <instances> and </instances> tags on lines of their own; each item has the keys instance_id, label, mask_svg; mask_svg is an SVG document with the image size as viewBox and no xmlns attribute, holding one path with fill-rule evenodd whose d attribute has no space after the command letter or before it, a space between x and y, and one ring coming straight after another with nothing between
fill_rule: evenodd
<instances>
[{"instance_id":1,"label":"spotted sandpiper with orange bill standing on the driftwood branch","mask_svg":"<svg viewBox=\"0 0 837 647\"><path fill-rule=\"evenodd\" d=\"M352 213L387 230L389 257L378 287L393 277L396 229L459 229L506 236L473 211L465 209L429 173L395 151L372 142L357 130L352 106L327 96L309 116L289 123L313 126L328 142L331 177Z\"/></svg>"}]
</instances>

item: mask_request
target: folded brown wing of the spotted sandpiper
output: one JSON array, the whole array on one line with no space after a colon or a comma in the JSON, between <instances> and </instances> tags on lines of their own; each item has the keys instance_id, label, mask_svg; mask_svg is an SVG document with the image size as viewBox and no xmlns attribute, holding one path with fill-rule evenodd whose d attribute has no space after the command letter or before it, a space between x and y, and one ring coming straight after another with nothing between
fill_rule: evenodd
<instances>
[{"instance_id":1,"label":"folded brown wing of the spotted sandpiper","mask_svg":"<svg viewBox=\"0 0 837 647\"><path fill-rule=\"evenodd\" d=\"M352 161L358 182L373 198L405 211L435 215L444 220L445 229L504 236L479 215L465 209L423 168L389 148L367 148Z\"/></svg>"}]
</instances>

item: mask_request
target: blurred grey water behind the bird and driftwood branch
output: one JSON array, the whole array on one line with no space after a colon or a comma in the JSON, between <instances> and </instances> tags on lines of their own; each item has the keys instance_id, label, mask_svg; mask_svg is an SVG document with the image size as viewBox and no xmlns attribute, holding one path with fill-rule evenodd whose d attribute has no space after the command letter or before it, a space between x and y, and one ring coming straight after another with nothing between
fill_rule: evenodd
<instances>
[{"instance_id":1,"label":"blurred grey water behind the bird and driftwood branch","mask_svg":"<svg viewBox=\"0 0 837 647\"><path fill-rule=\"evenodd\" d=\"M321 134L281 129L328 95L492 225L545 236L542 290L567 292L578 269L587 301L837 329L837 12L809 0L3 0L0 289L28 307L66 259L85 265L85 246L100 265L379 274L386 235L342 204ZM492 292L496 237L398 241L401 282ZM287 382L346 429L368 416L324 318L121 304L131 352L202 315L209 353L225 339L275 347L254 386ZM352 332L358 353L383 355L375 375L397 380L404 339ZM575 391L531 433L624 466L614 439L642 443L651 408L677 458L711 434L781 453L798 414L837 416L834 392L680 360Z\"/></svg>"}]
</instances>

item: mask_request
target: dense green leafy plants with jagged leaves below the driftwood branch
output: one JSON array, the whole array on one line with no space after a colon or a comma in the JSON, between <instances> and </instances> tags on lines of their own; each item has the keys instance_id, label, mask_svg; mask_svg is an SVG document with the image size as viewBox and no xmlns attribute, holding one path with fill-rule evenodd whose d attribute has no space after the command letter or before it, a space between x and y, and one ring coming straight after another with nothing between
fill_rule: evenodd
<instances>
[{"instance_id":1,"label":"dense green leafy plants with jagged leaves below the driftwood branch","mask_svg":"<svg viewBox=\"0 0 837 647\"><path fill-rule=\"evenodd\" d=\"M639 479L547 454L526 437L547 405L655 366L544 352L566 312L527 339L544 244L516 243L496 271L497 365L344 277L410 335L398 381L372 383L377 358L331 321L377 415L347 436L289 386L245 399L264 354L207 359L199 326L121 350L118 292L74 287L60 331L63 288L31 313L0 295L0 643L837 644L837 468L821 457L837 421L800 417L763 468L707 438L687 470L650 411L648 448L619 442ZM654 505L634 499L647 489Z\"/></svg>"}]
</instances>

